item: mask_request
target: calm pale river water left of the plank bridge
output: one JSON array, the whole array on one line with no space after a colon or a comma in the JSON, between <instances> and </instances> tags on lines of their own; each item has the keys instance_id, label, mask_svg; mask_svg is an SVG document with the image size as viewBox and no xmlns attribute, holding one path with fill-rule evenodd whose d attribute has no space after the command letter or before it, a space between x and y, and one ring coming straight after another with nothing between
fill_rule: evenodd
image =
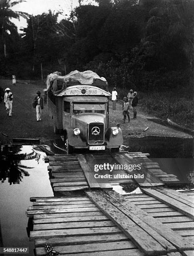
<instances>
[{"instance_id":1,"label":"calm pale river water left of the plank bridge","mask_svg":"<svg viewBox=\"0 0 194 256\"><path fill-rule=\"evenodd\" d=\"M34 243L29 242L27 236L28 218L25 215L32 205L30 197L53 196L44 156L45 153L33 146L3 147L1 151L0 231L3 246L27 246L30 256L34 255Z\"/></svg>"}]
</instances>

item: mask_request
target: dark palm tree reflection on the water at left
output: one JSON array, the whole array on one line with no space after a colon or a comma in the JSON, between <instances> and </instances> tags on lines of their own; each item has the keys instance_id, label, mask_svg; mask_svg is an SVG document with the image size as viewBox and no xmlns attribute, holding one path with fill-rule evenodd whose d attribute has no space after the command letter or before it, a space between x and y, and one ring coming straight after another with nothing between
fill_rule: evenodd
<instances>
[{"instance_id":1,"label":"dark palm tree reflection on the water at left","mask_svg":"<svg viewBox=\"0 0 194 256\"><path fill-rule=\"evenodd\" d=\"M23 153L21 146L5 145L1 147L0 152L0 181L4 183L8 178L11 184L20 184L24 176L30 176L26 169L33 169L21 164L22 160L40 160L40 154L35 151Z\"/></svg>"}]
</instances>

